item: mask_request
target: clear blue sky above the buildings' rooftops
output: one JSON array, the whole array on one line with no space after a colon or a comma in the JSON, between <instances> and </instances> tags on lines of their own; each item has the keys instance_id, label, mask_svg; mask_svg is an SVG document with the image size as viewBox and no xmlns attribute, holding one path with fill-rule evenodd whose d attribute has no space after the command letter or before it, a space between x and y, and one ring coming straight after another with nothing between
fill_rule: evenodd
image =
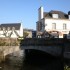
<instances>
[{"instance_id":1,"label":"clear blue sky above the buildings' rooftops","mask_svg":"<svg viewBox=\"0 0 70 70\"><path fill-rule=\"evenodd\" d=\"M70 0L0 0L0 24L22 23L23 28L36 30L40 6L45 12L58 10L68 13Z\"/></svg>"}]
</instances>

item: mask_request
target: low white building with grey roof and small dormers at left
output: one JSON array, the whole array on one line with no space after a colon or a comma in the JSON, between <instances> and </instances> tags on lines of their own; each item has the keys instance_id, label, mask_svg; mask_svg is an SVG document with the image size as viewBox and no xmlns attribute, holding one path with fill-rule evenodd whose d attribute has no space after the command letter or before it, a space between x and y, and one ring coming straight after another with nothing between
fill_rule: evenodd
<instances>
[{"instance_id":1,"label":"low white building with grey roof and small dormers at left","mask_svg":"<svg viewBox=\"0 0 70 70\"><path fill-rule=\"evenodd\" d=\"M23 27L21 23L7 23L0 25L0 38L19 38L23 37Z\"/></svg>"}]
</instances>

